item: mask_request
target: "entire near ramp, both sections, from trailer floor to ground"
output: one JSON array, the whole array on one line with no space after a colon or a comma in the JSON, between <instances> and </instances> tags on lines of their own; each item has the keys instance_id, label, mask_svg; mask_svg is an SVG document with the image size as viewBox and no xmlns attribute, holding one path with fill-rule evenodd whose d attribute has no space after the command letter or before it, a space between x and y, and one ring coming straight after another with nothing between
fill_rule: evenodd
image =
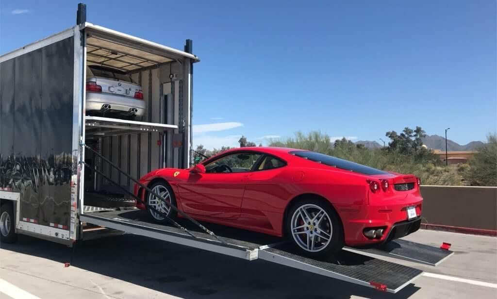
<instances>
[{"instance_id":1,"label":"entire near ramp, both sections, from trailer floor to ground","mask_svg":"<svg viewBox=\"0 0 497 299\"><path fill-rule=\"evenodd\" d=\"M309 258L299 254L292 244L281 238L210 224L210 227L215 226L216 235L226 242L222 244L210 234L188 226L185 220L179 219L178 222L185 225L193 236L170 224L154 223L147 211L138 209L85 213L80 220L246 260L262 259L390 293L399 292L422 274L411 267L347 250L325 260ZM265 245L270 243L273 245Z\"/></svg>"}]
</instances>

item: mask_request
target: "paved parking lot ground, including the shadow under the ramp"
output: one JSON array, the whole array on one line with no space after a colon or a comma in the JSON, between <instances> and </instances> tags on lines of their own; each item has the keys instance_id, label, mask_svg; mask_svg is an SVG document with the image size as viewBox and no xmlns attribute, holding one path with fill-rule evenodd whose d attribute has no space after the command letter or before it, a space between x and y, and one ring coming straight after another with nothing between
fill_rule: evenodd
<instances>
[{"instance_id":1,"label":"paved parking lot ground, including the shadow under the ramp","mask_svg":"<svg viewBox=\"0 0 497 299\"><path fill-rule=\"evenodd\" d=\"M6 287L42 299L496 297L497 238L420 230L407 239L449 242L455 254L436 268L397 261L426 273L394 295L132 234L85 241L64 268L72 249L21 235L17 244L1 245L0 298L9 298L1 293Z\"/></svg>"}]
</instances>

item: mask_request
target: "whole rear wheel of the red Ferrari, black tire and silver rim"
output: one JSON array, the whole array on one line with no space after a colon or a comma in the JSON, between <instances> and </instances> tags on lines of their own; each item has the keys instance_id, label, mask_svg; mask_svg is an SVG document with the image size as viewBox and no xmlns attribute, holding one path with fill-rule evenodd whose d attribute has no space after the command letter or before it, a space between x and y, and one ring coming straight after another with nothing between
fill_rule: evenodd
<instances>
[{"instance_id":1,"label":"whole rear wheel of the red Ferrari, black tire and silver rim","mask_svg":"<svg viewBox=\"0 0 497 299\"><path fill-rule=\"evenodd\" d=\"M290 240L308 256L326 256L343 247L341 221L329 203L298 202L290 209L286 227Z\"/></svg>"}]
</instances>

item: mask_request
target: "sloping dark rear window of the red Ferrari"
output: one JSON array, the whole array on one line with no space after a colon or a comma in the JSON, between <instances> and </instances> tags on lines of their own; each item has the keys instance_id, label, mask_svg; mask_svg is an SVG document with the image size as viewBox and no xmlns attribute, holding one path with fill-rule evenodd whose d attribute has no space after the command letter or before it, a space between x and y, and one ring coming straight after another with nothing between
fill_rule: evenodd
<instances>
[{"instance_id":1,"label":"sloping dark rear window of the red Ferrari","mask_svg":"<svg viewBox=\"0 0 497 299\"><path fill-rule=\"evenodd\" d=\"M311 161L319 162L331 167L336 167L348 171L353 171L357 173L367 174L367 175L375 175L375 174L389 174L388 172L365 166L362 164L350 162L344 159L332 157L326 154L322 154L314 151L291 151L293 155L298 157L306 158Z\"/></svg>"}]
</instances>

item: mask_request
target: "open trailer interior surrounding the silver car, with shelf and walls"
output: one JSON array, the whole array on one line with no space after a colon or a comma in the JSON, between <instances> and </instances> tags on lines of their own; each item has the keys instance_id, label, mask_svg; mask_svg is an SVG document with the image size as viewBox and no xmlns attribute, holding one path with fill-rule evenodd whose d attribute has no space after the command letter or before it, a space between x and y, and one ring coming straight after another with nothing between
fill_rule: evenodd
<instances>
[{"instance_id":1,"label":"open trailer interior surrounding the silver car, with shelf and walls","mask_svg":"<svg viewBox=\"0 0 497 299\"><path fill-rule=\"evenodd\" d=\"M84 143L135 178L162 167L189 167L191 68L198 59L89 23L83 32L84 70L97 65L130 75L142 86L146 107L144 116L136 120L105 113L85 115ZM129 178L95 154L86 152L84 160L112 182L86 170L82 201L87 207L83 209L134 205L134 200L116 186L132 191L134 183Z\"/></svg>"}]
</instances>

